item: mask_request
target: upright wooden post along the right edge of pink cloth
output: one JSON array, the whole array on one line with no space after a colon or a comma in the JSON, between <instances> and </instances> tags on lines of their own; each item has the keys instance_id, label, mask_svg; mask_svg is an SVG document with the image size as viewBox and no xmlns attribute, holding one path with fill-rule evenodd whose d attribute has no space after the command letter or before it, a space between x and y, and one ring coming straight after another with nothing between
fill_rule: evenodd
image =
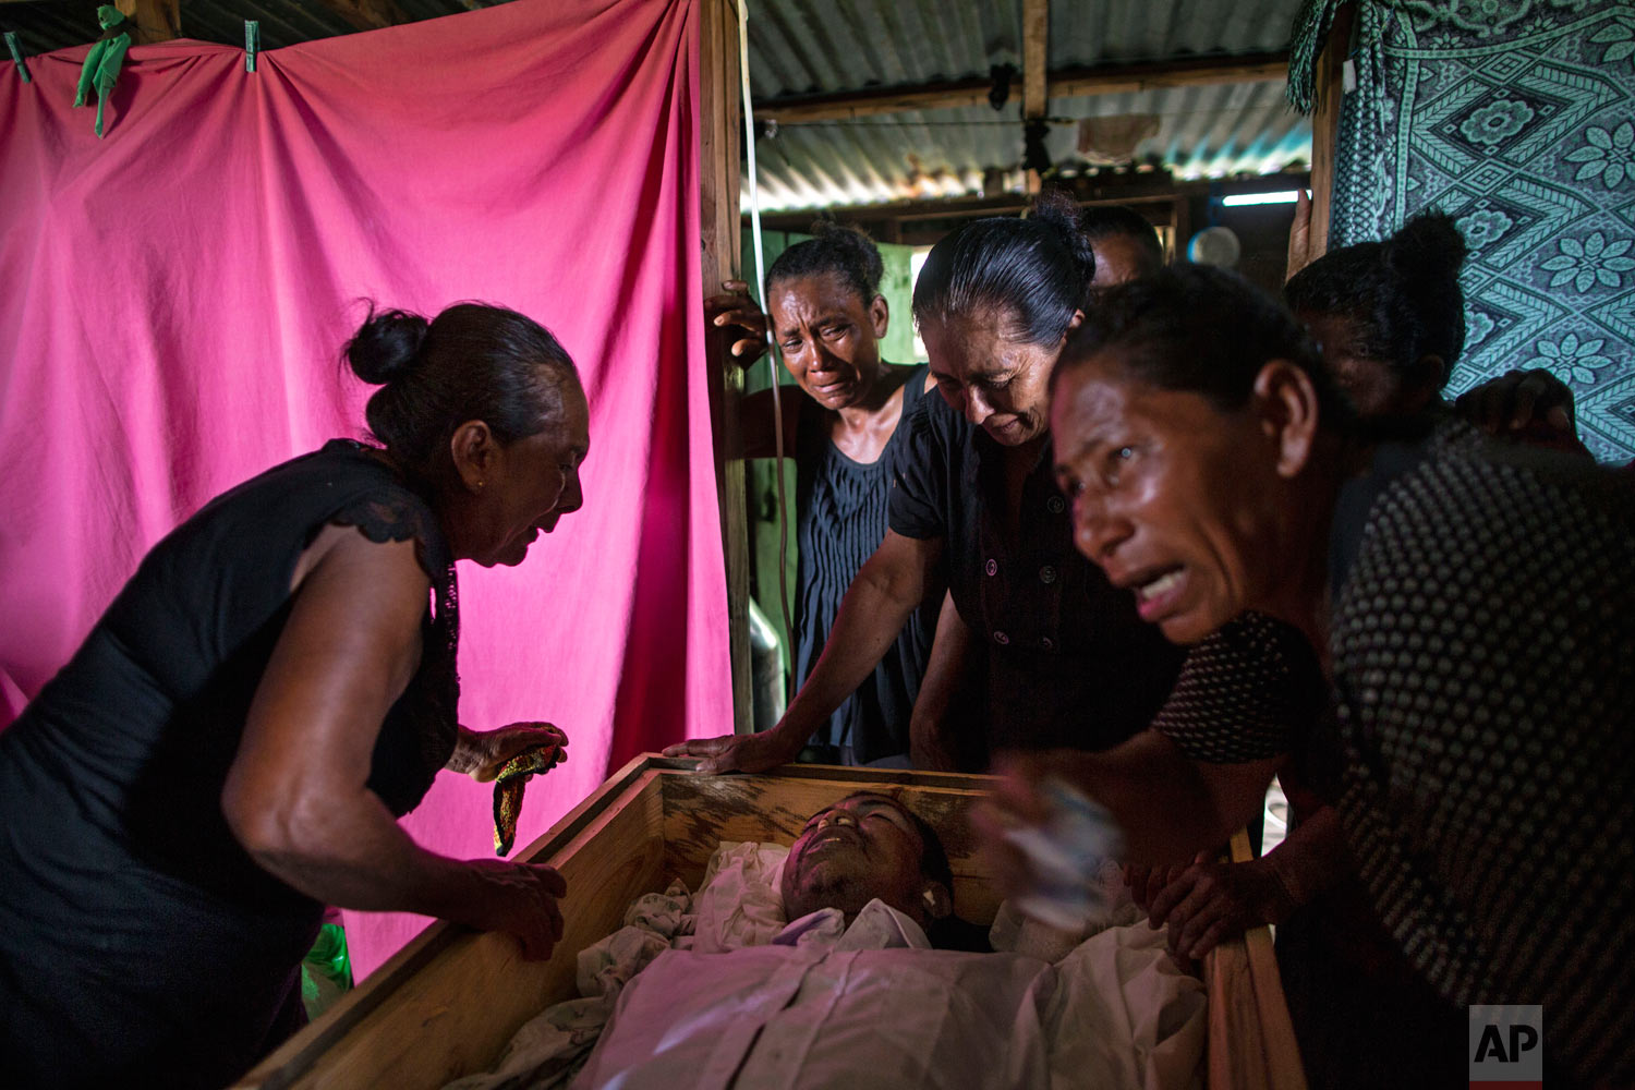
<instances>
[{"instance_id":1,"label":"upright wooden post along the right edge of pink cloth","mask_svg":"<svg viewBox=\"0 0 1635 1090\"><path fill-rule=\"evenodd\" d=\"M739 279L739 147L744 132L737 67L737 10L731 0L698 0L698 198L705 294ZM701 307L701 299L683 306ZM705 333L710 373L710 423L714 431L716 489L721 495L721 544L726 552L726 603L732 652L732 729L749 734L749 510L744 492L744 443L737 412L744 373L728 355L728 338Z\"/></svg>"}]
</instances>

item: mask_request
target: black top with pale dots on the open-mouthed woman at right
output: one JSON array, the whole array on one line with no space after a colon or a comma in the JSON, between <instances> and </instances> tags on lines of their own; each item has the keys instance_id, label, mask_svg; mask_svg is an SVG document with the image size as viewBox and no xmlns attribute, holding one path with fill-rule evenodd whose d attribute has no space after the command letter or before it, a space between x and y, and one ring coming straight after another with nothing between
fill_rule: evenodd
<instances>
[{"instance_id":1,"label":"black top with pale dots on the open-mouthed woman at right","mask_svg":"<svg viewBox=\"0 0 1635 1090\"><path fill-rule=\"evenodd\" d=\"M1303 757L1421 979L1458 1008L1542 1003L1576 1080L1630 1083L1628 477L1445 425L1342 489L1329 559L1333 714L1215 757Z\"/></svg>"}]
</instances>

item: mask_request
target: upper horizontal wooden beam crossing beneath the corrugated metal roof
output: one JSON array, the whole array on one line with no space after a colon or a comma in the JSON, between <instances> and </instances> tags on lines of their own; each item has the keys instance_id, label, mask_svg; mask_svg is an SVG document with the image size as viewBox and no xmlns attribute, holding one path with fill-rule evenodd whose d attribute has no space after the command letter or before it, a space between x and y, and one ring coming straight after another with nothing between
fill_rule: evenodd
<instances>
[{"instance_id":1,"label":"upper horizontal wooden beam crossing beneath the corrugated metal roof","mask_svg":"<svg viewBox=\"0 0 1635 1090\"><path fill-rule=\"evenodd\" d=\"M1287 78L1288 54L1283 52L1244 57L1189 57L1148 64L1104 64L1094 69L1059 69L1046 75L1045 95L1048 98L1087 98L1169 87L1261 83ZM986 106L991 87L991 80L945 80L917 87L803 95L755 103L755 113L778 124L811 124L814 121L878 118L914 109ZM1012 83L1012 90L1022 90L1024 96L1027 93L1025 87L1017 83Z\"/></svg>"}]
</instances>

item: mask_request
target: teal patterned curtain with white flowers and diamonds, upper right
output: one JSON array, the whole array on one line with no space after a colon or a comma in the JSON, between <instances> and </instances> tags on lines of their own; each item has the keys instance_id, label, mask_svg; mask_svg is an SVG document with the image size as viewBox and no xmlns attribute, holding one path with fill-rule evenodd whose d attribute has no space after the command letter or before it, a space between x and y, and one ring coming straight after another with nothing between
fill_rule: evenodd
<instances>
[{"instance_id":1,"label":"teal patterned curtain with white flowers and diamonds, upper right","mask_svg":"<svg viewBox=\"0 0 1635 1090\"><path fill-rule=\"evenodd\" d=\"M1297 25L1290 98L1334 0ZM1635 456L1635 5L1362 0L1329 245L1436 208L1472 248L1458 392L1511 368L1573 387L1604 461Z\"/></svg>"}]
</instances>

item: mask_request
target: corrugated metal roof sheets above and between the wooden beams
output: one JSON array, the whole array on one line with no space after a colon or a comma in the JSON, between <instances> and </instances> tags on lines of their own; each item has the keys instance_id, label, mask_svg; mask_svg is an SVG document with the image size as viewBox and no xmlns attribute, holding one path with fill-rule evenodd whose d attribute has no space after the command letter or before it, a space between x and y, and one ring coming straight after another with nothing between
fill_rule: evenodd
<instances>
[{"instance_id":1,"label":"corrugated metal roof sheets above and between the wooden beams","mask_svg":"<svg viewBox=\"0 0 1635 1090\"><path fill-rule=\"evenodd\" d=\"M409 20L482 0L394 0ZM1301 0L1053 0L1053 70L1282 49ZM1022 0L749 0L750 87L757 101L813 93L988 78L1022 64ZM95 0L0 5L26 52L88 42ZM186 0L181 33L242 44L244 20L276 49L353 28L322 0ZM1153 116L1158 132L1131 154L1182 178L1265 173L1310 159L1311 126L1282 106L1280 83L1190 87L1051 100L1048 149L1064 172L1081 118ZM981 193L983 173L1020 185L1020 103L880 114L785 126L757 142L762 208L808 209Z\"/></svg>"}]
</instances>

